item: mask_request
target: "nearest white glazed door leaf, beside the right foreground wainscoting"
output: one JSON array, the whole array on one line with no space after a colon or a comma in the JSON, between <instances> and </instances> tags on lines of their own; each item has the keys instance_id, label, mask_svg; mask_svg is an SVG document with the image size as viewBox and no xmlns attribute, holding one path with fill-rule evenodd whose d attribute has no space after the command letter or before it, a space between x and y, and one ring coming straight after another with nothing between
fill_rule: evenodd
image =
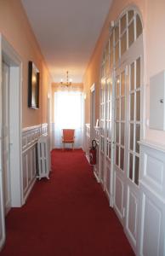
<instances>
[{"instance_id":1,"label":"nearest white glazed door leaf, beside the right foreground wainscoting","mask_svg":"<svg viewBox=\"0 0 165 256\"><path fill-rule=\"evenodd\" d=\"M128 136L125 231L134 249L137 245L139 209L139 140L141 130L141 63L136 56L128 65Z\"/></svg>"}]
</instances>

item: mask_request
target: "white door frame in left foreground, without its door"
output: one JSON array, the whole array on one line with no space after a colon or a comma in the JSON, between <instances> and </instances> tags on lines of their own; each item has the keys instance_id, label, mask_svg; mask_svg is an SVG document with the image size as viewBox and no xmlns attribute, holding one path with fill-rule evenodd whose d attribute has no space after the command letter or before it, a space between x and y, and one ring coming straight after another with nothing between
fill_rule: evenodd
<instances>
[{"instance_id":1,"label":"white door frame in left foreground, without its door","mask_svg":"<svg viewBox=\"0 0 165 256\"><path fill-rule=\"evenodd\" d=\"M0 34L0 120L2 121L2 65L3 60L9 65L9 119L10 119L10 180L11 207L21 207L23 201L22 189L22 62L20 55ZM16 114L15 114L16 113ZM0 129L2 129L0 125ZM1 144L1 142L0 142ZM0 145L0 153L2 145ZM0 169L2 160L0 161Z\"/></svg>"}]
</instances>

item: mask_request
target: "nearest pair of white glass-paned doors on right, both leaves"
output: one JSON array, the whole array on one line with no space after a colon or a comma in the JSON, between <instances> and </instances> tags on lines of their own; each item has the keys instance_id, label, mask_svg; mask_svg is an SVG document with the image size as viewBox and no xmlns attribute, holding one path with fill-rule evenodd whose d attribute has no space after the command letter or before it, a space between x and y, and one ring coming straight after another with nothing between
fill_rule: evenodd
<instances>
[{"instance_id":1,"label":"nearest pair of white glass-paned doors on right, both leaves","mask_svg":"<svg viewBox=\"0 0 165 256\"><path fill-rule=\"evenodd\" d=\"M137 51L126 67L117 69L115 79L114 209L133 247L139 205L141 63Z\"/></svg>"}]
</instances>

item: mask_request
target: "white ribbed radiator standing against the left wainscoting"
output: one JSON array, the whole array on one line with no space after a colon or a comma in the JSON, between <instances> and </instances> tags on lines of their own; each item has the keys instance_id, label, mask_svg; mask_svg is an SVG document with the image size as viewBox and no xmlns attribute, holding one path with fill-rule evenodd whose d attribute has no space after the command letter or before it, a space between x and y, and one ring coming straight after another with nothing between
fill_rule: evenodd
<instances>
[{"instance_id":1,"label":"white ribbed radiator standing against the left wainscoting","mask_svg":"<svg viewBox=\"0 0 165 256\"><path fill-rule=\"evenodd\" d=\"M37 177L48 177L50 171L50 147L48 136L43 135L37 141L37 160L38 160L38 173Z\"/></svg>"}]
</instances>

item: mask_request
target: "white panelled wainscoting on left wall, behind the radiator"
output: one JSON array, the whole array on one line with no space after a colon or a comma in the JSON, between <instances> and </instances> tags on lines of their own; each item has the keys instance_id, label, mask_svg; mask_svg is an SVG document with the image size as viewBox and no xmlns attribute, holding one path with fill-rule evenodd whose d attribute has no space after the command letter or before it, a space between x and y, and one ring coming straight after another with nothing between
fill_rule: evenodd
<instances>
[{"instance_id":1,"label":"white panelled wainscoting on left wall, behind the radiator","mask_svg":"<svg viewBox=\"0 0 165 256\"><path fill-rule=\"evenodd\" d=\"M22 130L22 177L24 203L36 181L37 139L43 134L48 134L48 124L35 125Z\"/></svg>"}]
</instances>

